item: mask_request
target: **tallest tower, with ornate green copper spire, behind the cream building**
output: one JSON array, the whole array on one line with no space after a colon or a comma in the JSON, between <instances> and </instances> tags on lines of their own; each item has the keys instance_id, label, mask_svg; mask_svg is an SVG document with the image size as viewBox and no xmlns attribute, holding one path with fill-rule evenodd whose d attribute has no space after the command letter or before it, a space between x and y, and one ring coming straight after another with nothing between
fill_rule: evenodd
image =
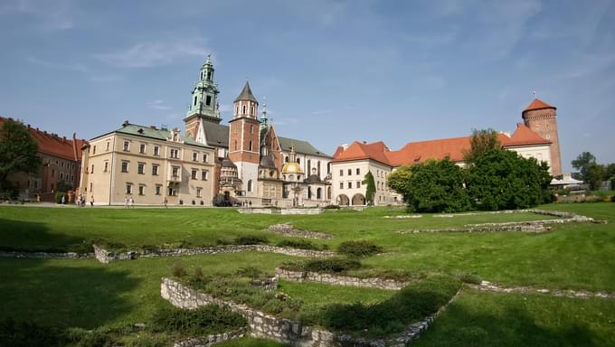
<instances>
[{"instance_id":1,"label":"tallest tower, with ornate green copper spire, behind the cream building","mask_svg":"<svg viewBox=\"0 0 615 347\"><path fill-rule=\"evenodd\" d=\"M213 81L213 63L211 55L207 56L207 61L203 63L199 70L199 80L194 83L190 106L184 118L185 134L197 141L203 135L199 135L201 123L212 122L219 124L220 106L218 105L218 84Z\"/></svg>"}]
</instances>

